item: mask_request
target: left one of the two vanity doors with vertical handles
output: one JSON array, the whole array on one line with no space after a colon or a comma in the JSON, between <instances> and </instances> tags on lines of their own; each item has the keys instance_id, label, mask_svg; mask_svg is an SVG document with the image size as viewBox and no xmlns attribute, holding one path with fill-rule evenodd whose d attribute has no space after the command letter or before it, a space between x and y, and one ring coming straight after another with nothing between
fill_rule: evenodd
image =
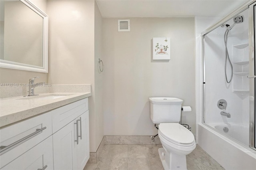
<instances>
[{"instance_id":1,"label":"left one of the two vanity doors with vertical handles","mask_svg":"<svg viewBox=\"0 0 256 170\"><path fill-rule=\"evenodd\" d=\"M53 160L55 170L76 170L76 125L70 122L53 134Z\"/></svg>"}]
</instances>

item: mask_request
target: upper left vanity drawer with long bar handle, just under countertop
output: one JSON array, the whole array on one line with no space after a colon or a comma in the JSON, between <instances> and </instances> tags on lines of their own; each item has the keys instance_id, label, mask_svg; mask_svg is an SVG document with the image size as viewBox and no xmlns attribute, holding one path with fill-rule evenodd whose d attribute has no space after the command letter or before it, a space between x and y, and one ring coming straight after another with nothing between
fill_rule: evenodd
<instances>
[{"instance_id":1,"label":"upper left vanity drawer with long bar handle, just under countertop","mask_svg":"<svg viewBox=\"0 0 256 170\"><path fill-rule=\"evenodd\" d=\"M48 112L0 129L0 168L50 136L51 118Z\"/></svg>"}]
</instances>

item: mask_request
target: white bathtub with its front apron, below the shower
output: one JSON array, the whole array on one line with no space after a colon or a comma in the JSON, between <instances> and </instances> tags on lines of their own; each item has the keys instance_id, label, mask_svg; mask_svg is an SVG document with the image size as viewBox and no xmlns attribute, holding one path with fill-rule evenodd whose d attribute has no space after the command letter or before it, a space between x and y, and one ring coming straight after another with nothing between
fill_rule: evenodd
<instances>
[{"instance_id":1,"label":"white bathtub with its front apron, below the shower","mask_svg":"<svg viewBox=\"0 0 256 170\"><path fill-rule=\"evenodd\" d=\"M198 145L205 150L214 160L216 160L226 170L255 170L256 167L256 151L246 147L240 142L235 142L232 138L240 138L244 135L243 127L232 124L212 124L211 126L222 130L214 130L214 128L198 123ZM223 128L228 127L230 138L224 135ZM240 128L240 129L239 129ZM244 127L244 130L246 126ZM234 133L239 131L240 134ZM238 139L236 139L238 140ZM247 142L247 141L246 141Z\"/></svg>"}]
</instances>

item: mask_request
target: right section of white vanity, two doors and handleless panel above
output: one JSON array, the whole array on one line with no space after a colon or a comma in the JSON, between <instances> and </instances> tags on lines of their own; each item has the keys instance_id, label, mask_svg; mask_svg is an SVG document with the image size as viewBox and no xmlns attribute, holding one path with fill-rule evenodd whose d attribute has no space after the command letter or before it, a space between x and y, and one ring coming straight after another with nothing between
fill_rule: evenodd
<instances>
[{"instance_id":1,"label":"right section of white vanity, two doors and handleless panel above","mask_svg":"<svg viewBox=\"0 0 256 170\"><path fill-rule=\"evenodd\" d=\"M52 119L55 170L82 170L89 159L88 99L54 110Z\"/></svg>"}]
</instances>

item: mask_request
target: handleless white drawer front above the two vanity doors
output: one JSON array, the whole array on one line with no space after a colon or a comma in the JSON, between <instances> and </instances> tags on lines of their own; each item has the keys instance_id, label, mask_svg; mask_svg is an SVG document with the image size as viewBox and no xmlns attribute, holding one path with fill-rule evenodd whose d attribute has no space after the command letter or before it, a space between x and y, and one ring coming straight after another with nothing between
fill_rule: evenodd
<instances>
[{"instance_id":1,"label":"handleless white drawer front above the two vanity doors","mask_svg":"<svg viewBox=\"0 0 256 170\"><path fill-rule=\"evenodd\" d=\"M60 128L68 125L68 123L86 111L88 111L88 98L54 109L51 111L52 132L55 133L60 130Z\"/></svg>"}]
</instances>

